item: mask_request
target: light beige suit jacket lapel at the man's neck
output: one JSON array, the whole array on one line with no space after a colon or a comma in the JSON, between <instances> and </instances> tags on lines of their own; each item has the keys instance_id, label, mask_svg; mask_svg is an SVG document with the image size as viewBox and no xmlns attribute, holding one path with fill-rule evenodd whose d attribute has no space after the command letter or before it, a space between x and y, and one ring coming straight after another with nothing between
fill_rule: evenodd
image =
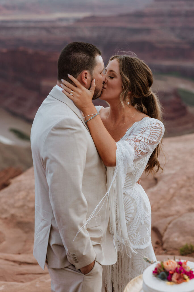
<instances>
[{"instance_id":1,"label":"light beige suit jacket lapel at the man's neck","mask_svg":"<svg viewBox=\"0 0 194 292\"><path fill-rule=\"evenodd\" d=\"M89 131L88 127L86 126L85 120L79 111L79 109L74 105L72 100L70 100L62 91L58 90L56 87L53 87L51 92L49 93L52 97L60 100L61 102L64 102L72 111L81 119L82 123L86 127L86 129Z\"/></svg>"}]
</instances>

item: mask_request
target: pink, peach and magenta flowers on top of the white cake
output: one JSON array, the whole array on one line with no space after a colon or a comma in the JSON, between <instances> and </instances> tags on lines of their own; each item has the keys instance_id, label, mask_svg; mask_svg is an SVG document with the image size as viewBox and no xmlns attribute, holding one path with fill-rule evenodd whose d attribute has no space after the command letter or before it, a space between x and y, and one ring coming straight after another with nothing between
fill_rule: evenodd
<instances>
[{"instance_id":1,"label":"pink, peach and magenta flowers on top of the white cake","mask_svg":"<svg viewBox=\"0 0 194 292\"><path fill-rule=\"evenodd\" d=\"M184 262L166 260L157 263L153 274L163 281L168 281L168 284L181 284L194 279L193 271L188 267L187 260Z\"/></svg>"}]
</instances>

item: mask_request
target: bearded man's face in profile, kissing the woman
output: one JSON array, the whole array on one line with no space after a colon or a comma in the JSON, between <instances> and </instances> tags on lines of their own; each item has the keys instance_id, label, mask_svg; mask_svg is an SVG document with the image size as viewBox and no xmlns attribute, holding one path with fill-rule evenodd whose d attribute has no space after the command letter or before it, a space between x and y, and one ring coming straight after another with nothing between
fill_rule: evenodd
<instances>
[{"instance_id":1,"label":"bearded man's face in profile, kissing the woman","mask_svg":"<svg viewBox=\"0 0 194 292\"><path fill-rule=\"evenodd\" d=\"M95 79L96 88L92 97L93 100L100 96L103 87L103 81L105 81L103 74L104 62L102 60L102 57L100 55L97 55L95 59L96 66L94 67L94 70L92 72L92 80Z\"/></svg>"}]
</instances>

